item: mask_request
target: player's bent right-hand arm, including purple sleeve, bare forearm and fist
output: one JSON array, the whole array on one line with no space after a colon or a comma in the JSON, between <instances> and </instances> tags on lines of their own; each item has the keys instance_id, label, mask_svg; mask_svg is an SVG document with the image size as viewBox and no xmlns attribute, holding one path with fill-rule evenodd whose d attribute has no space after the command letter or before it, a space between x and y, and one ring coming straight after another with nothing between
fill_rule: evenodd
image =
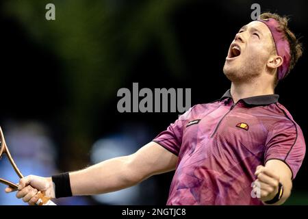
<instances>
[{"instance_id":1,"label":"player's bent right-hand arm, including purple sleeve, bare forearm and fist","mask_svg":"<svg viewBox=\"0 0 308 219\"><path fill-rule=\"evenodd\" d=\"M292 179L296 177L306 151L303 131L288 112L284 113L288 119L277 121L268 131L264 154L265 167L258 167L256 171L257 179L269 184L268 194L261 197L261 201L270 201L278 192L277 183L280 182L283 185L283 196L273 205L285 203L290 196ZM260 172L261 176L259 176Z\"/></svg>"}]
</instances>

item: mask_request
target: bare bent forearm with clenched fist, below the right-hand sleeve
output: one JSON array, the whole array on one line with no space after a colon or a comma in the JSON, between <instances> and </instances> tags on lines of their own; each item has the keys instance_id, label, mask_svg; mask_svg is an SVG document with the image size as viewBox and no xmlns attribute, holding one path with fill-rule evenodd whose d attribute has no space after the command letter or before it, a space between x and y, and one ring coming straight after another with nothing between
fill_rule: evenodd
<instances>
[{"instance_id":1,"label":"bare bent forearm with clenched fist, below the right-hand sleeve","mask_svg":"<svg viewBox=\"0 0 308 219\"><path fill-rule=\"evenodd\" d=\"M287 201L292 190L292 172L287 164L279 159L271 159L265 166L258 166L255 175L256 181L259 182L260 200L263 203L276 196L279 192L279 182L283 185L283 196L272 205L282 205Z\"/></svg>"}]
</instances>

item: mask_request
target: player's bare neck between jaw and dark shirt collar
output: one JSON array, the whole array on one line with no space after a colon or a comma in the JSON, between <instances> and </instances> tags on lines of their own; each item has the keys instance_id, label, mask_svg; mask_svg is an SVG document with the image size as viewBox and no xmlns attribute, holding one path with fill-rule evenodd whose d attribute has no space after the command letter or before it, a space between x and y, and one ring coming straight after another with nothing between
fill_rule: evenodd
<instances>
[{"instance_id":1,"label":"player's bare neck between jaw and dark shirt collar","mask_svg":"<svg viewBox=\"0 0 308 219\"><path fill-rule=\"evenodd\" d=\"M271 83L266 83L265 81L232 82L230 91L234 103L251 96L274 94L274 88L271 86Z\"/></svg>"}]
</instances>

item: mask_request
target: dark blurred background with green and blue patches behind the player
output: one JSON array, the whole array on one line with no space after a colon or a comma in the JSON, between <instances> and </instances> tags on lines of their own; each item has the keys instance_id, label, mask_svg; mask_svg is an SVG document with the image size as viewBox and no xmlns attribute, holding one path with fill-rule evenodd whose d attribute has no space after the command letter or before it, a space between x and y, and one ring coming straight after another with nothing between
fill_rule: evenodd
<instances>
[{"instance_id":1,"label":"dark blurred background with green and blue patches behind the player","mask_svg":"<svg viewBox=\"0 0 308 219\"><path fill-rule=\"evenodd\" d=\"M55 21L45 5L55 5ZM229 44L261 12L290 15L307 49L305 1L0 1L0 125L24 175L78 170L151 141L179 113L119 113L120 88L191 88L192 105L219 99ZM277 87L307 138L307 52ZM4 159L4 160L3 160ZM3 158L0 177L17 181ZM307 159L286 204L307 205ZM133 188L62 205L166 204L173 172ZM3 191L4 185L0 189ZM22 205L0 192L1 205Z\"/></svg>"}]
</instances>

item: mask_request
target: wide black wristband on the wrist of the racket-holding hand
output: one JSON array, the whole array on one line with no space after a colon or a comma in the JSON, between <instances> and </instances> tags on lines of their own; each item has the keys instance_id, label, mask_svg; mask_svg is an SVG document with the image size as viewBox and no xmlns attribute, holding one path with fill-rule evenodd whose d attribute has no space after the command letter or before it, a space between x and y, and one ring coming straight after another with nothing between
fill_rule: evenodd
<instances>
[{"instance_id":1,"label":"wide black wristband on the wrist of the racket-holding hand","mask_svg":"<svg viewBox=\"0 0 308 219\"><path fill-rule=\"evenodd\" d=\"M72 196L70 189L70 175L68 172L53 175L51 177L55 185L55 198Z\"/></svg>"}]
</instances>

